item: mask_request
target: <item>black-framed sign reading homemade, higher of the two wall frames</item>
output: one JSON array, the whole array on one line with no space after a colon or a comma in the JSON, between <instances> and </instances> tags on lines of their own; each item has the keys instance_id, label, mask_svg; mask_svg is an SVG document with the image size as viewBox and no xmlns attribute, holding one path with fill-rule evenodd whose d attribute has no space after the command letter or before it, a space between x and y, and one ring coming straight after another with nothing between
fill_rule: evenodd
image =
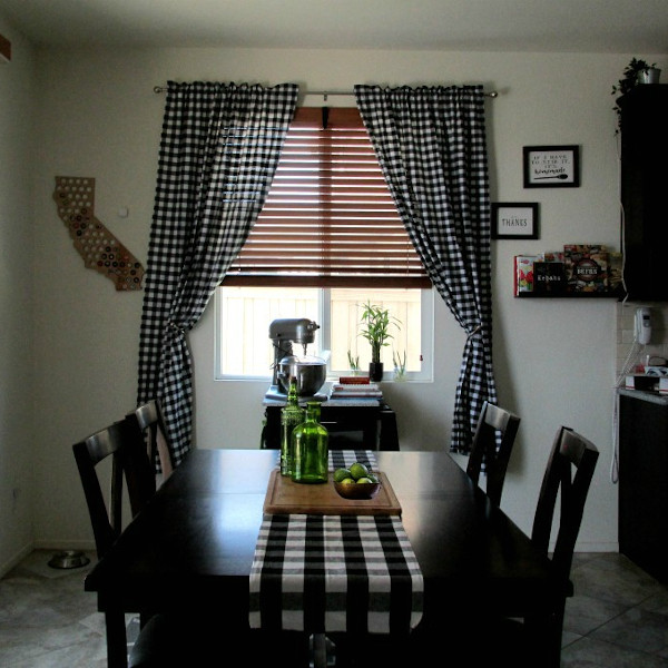
<instances>
[{"instance_id":1,"label":"black-framed sign reading homemade, higher of the two wall frames","mask_svg":"<svg viewBox=\"0 0 668 668\"><path fill-rule=\"evenodd\" d=\"M580 186L579 146L524 146L524 188Z\"/></svg>"}]
</instances>

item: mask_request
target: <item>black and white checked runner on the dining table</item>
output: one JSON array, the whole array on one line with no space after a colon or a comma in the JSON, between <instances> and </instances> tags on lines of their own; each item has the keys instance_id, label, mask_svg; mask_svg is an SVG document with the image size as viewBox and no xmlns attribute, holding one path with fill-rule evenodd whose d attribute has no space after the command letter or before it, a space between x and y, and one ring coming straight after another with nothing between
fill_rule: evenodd
<instances>
[{"instance_id":1,"label":"black and white checked runner on the dining table","mask_svg":"<svg viewBox=\"0 0 668 668\"><path fill-rule=\"evenodd\" d=\"M328 468L376 470L371 450L332 450ZM409 632L422 617L418 559L396 515L263 517L250 569L250 628Z\"/></svg>"}]
</instances>

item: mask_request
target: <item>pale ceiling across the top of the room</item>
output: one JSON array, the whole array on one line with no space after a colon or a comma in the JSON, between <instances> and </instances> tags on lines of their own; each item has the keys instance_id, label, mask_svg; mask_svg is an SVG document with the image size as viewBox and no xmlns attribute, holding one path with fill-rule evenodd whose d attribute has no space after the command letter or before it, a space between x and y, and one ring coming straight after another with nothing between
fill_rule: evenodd
<instances>
[{"instance_id":1,"label":"pale ceiling across the top of the room","mask_svg":"<svg viewBox=\"0 0 668 668\"><path fill-rule=\"evenodd\" d=\"M2 0L0 13L50 47L668 52L667 0Z\"/></svg>"}]
</instances>

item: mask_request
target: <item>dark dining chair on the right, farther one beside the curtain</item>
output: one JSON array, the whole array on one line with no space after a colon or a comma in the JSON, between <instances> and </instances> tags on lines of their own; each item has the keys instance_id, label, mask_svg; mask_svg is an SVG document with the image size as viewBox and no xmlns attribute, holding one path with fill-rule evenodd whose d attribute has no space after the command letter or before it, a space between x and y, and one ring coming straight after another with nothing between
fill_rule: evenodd
<instances>
[{"instance_id":1,"label":"dark dining chair on the right, farther one beside the curtain","mask_svg":"<svg viewBox=\"0 0 668 668\"><path fill-rule=\"evenodd\" d=\"M484 469L485 491L494 505L501 504L505 471L519 426L520 418L510 411L487 401L483 403L466 473L478 484Z\"/></svg>"}]
</instances>

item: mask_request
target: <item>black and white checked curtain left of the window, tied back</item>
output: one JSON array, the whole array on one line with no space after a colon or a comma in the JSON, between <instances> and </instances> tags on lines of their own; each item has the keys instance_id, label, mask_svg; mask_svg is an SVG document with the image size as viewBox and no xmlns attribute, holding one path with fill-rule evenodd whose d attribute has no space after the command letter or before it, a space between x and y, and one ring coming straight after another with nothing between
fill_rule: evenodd
<instances>
[{"instance_id":1,"label":"black and white checked curtain left of the window, tied back","mask_svg":"<svg viewBox=\"0 0 668 668\"><path fill-rule=\"evenodd\" d=\"M190 448L186 334L244 245L274 178L297 86L169 82L139 340L138 404L159 399L175 464Z\"/></svg>"}]
</instances>

